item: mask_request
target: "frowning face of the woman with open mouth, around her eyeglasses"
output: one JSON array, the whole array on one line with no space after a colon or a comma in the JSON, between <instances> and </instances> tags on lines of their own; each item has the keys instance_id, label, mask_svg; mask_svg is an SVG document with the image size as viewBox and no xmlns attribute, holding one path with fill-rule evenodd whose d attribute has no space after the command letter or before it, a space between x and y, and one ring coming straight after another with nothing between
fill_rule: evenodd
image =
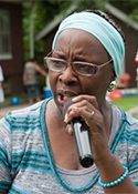
<instances>
[{"instance_id":1,"label":"frowning face of the woman with open mouth, around her eyeglasses","mask_svg":"<svg viewBox=\"0 0 138 194\"><path fill-rule=\"evenodd\" d=\"M109 60L106 50L95 37L76 29L68 29L60 34L52 57L67 62L83 61L97 65ZM78 75L70 65L60 73L50 71L49 78L55 103L62 110L70 96L81 94L96 96L100 105L114 73L110 63L91 76Z\"/></svg>"}]
</instances>

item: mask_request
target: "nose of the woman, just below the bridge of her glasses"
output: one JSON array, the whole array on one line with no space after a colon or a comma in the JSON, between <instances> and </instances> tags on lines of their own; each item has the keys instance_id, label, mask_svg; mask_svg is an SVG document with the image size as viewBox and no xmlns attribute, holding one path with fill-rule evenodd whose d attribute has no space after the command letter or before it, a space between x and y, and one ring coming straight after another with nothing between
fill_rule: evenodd
<instances>
[{"instance_id":1,"label":"nose of the woman, just below the bridge of her glasses","mask_svg":"<svg viewBox=\"0 0 138 194\"><path fill-rule=\"evenodd\" d=\"M66 70L64 70L60 76L59 76L60 82L66 84L66 85L75 85L77 82L77 75L73 71L72 67L68 65Z\"/></svg>"}]
</instances>

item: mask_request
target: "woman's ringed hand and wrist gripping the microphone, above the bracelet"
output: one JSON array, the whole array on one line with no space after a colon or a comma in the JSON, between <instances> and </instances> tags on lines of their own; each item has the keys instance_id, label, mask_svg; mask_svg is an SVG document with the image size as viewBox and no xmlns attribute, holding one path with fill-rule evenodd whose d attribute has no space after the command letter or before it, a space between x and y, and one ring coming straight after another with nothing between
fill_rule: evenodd
<instances>
[{"instance_id":1,"label":"woman's ringed hand and wrist gripping the microphone, above the bracelet","mask_svg":"<svg viewBox=\"0 0 138 194\"><path fill-rule=\"evenodd\" d=\"M110 156L112 154L108 147L108 134L96 98L91 95L78 95L72 101L73 104L68 108L64 121L70 124L74 118L83 118L89 127L95 163L107 159L107 155ZM73 133L73 129L72 131L71 127L68 129L68 133Z\"/></svg>"}]
</instances>

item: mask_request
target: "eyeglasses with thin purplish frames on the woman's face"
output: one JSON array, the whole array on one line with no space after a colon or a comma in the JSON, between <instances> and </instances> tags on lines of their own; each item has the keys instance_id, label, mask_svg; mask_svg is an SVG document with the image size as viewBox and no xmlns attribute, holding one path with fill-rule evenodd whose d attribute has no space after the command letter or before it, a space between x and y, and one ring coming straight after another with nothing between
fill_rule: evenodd
<instances>
[{"instance_id":1,"label":"eyeglasses with thin purplish frames on the woman's face","mask_svg":"<svg viewBox=\"0 0 138 194\"><path fill-rule=\"evenodd\" d=\"M97 73L102 68L104 68L106 64L110 62L112 62L112 59L104 64L97 65L97 64L81 62L81 61L67 62L65 60L52 58L52 57L44 58L44 65L53 72L61 73L64 70L66 70L67 67L72 65L75 73L79 75L85 75L85 76L89 76L92 74Z\"/></svg>"}]
</instances>

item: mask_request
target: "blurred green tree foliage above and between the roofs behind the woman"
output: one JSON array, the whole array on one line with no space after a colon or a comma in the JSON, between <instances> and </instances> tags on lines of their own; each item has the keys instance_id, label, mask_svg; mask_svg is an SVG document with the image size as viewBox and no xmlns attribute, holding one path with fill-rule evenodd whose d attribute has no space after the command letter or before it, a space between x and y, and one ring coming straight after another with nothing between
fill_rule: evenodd
<instances>
[{"instance_id":1,"label":"blurred green tree foliage above and between the roofs behind the woman","mask_svg":"<svg viewBox=\"0 0 138 194\"><path fill-rule=\"evenodd\" d=\"M77 3L76 11L87 9L105 10L105 3L109 2L138 21L138 0L35 0L25 1L23 3L23 44L24 44L24 61L30 59L30 14L33 10L34 37L46 24L52 21L61 12L64 14L71 4ZM120 3L121 2L121 3ZM43 65L44 41L34 42L35 58Z\"/></svg>"}]
</instances>

